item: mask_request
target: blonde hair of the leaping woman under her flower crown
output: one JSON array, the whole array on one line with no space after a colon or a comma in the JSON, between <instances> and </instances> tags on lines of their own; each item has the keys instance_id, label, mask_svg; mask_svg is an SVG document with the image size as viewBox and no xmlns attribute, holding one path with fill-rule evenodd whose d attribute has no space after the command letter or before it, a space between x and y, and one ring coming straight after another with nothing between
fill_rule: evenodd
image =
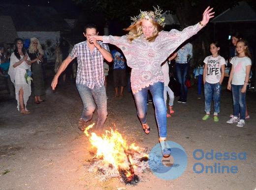
<instances>
[{"instance_id":1,"label":"blonde hair of the leaping woman under her flower crown","mask_svg":"<svg viewBox=\"0 0 256 190\"><path fill-rule=\"evenodd\" d=\"M143 19L140 19L135 24L124 29L125 31L128 31L127 37L130 42L132 42L132 40L138 38L141 34L143 34L142 26L141 26L142 20ZM160 26L160 24L158 22L155 22L153 19L146 19L146 20L150 21L153 24L153 26L155 26L155 31L152 33L152 36L147 38L149 42L154 42L155 39L158 37L158 33L163 29L163 27Z\"/></svg>"}]
</instances>

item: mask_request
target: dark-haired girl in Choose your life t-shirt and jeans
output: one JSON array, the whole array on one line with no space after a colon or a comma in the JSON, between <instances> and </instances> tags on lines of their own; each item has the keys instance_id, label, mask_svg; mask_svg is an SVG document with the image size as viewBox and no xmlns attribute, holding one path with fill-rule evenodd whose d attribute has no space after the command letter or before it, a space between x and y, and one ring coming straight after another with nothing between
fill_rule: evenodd
<instances>
[{"instance_id":1,"label":"dark-haired girl in Choose your life t-shirt and jeans","mask_svg":"<svg viewBox=\"0 0 256 190\"><path fill-rule=\"evenodd\" d=\"M219 55L220 46L218 42L210 44L210 52L212 55L204 59L203 83L204 83L204 110L206 115L202 120L207 120L210 117L211 102L214 103L215 122L219 121L218 113L220 112L220 101L222 92L222 81L224 79L225 59Z\"/></svg>"}]
</instances>

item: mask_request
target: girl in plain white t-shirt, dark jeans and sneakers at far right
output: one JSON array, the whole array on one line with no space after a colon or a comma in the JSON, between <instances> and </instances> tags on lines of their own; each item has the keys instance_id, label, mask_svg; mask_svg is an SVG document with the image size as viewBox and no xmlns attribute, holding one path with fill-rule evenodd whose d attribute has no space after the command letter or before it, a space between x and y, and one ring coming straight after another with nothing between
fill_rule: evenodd
<instances>
[{"instance_id":1,"label":"girl in plain white t-shirt, dark jeans and sneakers at far right","mask_svg":"<svg viewBox=\"0 0 256 190\"><path fill-rule=\"evenodd\" d=\"M237 127L243 127L246 113L246 88L252 61L246 40L242 39L237 42L236 51L238 54L230 61L232 68L227 83L227 89L232 89L234 117L229 119L227 123L237 123ZM238 119L239 113L240 119Z\"/></svg>"}]
</instances>

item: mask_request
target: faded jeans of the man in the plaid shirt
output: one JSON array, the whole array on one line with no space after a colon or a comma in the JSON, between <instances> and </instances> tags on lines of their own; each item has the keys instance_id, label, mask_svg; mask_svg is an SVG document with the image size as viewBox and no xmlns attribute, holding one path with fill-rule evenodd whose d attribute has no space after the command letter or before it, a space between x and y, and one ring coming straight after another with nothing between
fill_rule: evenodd
<instances>
[{"instance_id":1,"label":"faded jeans of the man in the plaid shirt","mask_svg":"<svg viewBox=\"0 0 256 190\"><path fill-rule=\"evenodd\" d=\"M97 106L98 120L95 128L103 128L107 118L107 95L105 86L95 86L91 89L85 84L77 83L76 87L84 104L81 118L85 121L91 120Z\"/></svg>"}]
</instances>

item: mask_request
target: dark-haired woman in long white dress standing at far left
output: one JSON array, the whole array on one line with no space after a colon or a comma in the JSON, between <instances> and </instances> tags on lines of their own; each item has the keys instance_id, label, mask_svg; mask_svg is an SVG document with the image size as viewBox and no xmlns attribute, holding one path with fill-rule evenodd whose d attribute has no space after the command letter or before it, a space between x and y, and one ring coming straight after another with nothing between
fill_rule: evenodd
<instances>
[{"instance_id":1,"label":"dark-haired woman in long white dress standing at far left","mask_svg":"<svg viewBox=\"0 0 256 190\"><path fill-rule=\"evenodd\" d=\"M29 71L31 71L30 57L23 47L22 39L17 38L15 39L15 50L11 54L8 74L15 86L17 109L23 114L30 113L26 108L31 95L31 81L28 77L30 75Z\"/></svg>"}]
</instances>

